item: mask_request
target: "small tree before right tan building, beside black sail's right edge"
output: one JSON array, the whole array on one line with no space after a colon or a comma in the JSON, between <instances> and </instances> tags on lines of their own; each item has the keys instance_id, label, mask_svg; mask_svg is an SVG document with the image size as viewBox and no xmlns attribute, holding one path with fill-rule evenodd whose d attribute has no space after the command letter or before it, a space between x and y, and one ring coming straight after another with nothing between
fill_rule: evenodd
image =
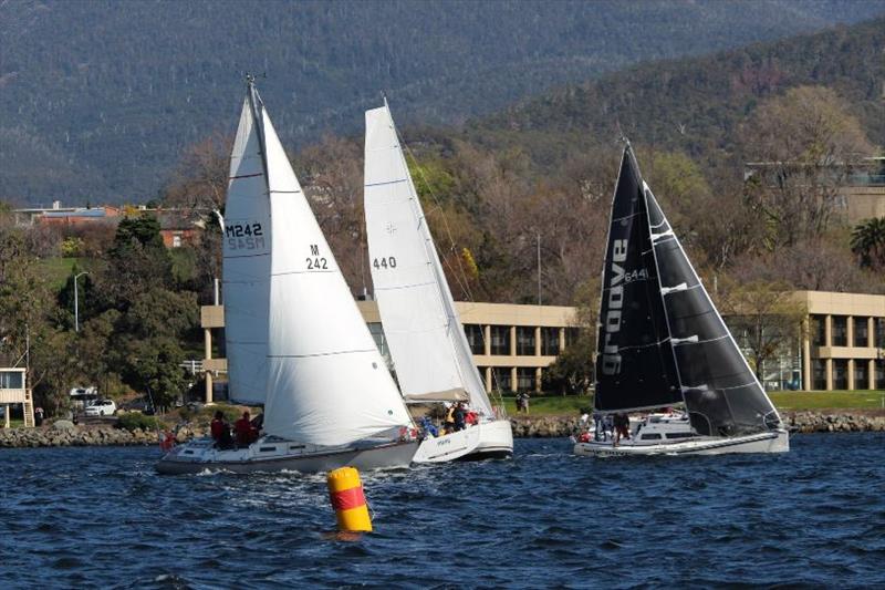
<instances>
[{"instance_id":1,"label":"small tree before right tan building, beside black sail's right edge","mask_svg":"<svg viewBox=\"0 0 885 590\"><path fill-rule=\"evenodd\" d=\"M798 345L808 310L795 301L789 284L783 282L730 284L722 291L722 311L729 315L732 331L743 333L739 340L761 382L766 361Z\"/></svg>"}]
</instances>

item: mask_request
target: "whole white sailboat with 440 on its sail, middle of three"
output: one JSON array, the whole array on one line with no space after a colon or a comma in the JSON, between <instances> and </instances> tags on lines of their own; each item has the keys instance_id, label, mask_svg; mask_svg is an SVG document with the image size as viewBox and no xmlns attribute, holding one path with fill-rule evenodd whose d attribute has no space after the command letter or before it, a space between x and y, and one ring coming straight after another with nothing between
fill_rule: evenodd
<instances>
[{"instance_id":1,"label":"whole white sailboat with 440 on its sail, middle of three","mask_svg":"<svg viewBox=\"0 0 885 590\"><path fill-rule=\"evenodd\" d=\"M464 401L478 423L426 438L415 463L510 456L513 434L486 393L391 112L366 111L365 213L375 298L407 403Z\"/></svg>"}]
</instances>

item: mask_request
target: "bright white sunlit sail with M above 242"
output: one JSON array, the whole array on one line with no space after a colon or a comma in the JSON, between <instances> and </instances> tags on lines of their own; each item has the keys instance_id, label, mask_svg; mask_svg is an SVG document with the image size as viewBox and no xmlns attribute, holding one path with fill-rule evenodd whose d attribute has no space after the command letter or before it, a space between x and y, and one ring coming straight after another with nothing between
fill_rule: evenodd
<instances>
[{"instance_id":1,"label":"bright white sunlit sail with M above 242","mask_svg":"<svg viewBox=\"0 0 885 590\"><path fill-rule=\"evenodd\" d=\"M396 384L264 105L254 86L249 90L248 116L259 141L270 222L268 297L251 301L256 317L268 315L264 429L301 443L341 445L408 426Z\"/></svg>"}]
</instances>

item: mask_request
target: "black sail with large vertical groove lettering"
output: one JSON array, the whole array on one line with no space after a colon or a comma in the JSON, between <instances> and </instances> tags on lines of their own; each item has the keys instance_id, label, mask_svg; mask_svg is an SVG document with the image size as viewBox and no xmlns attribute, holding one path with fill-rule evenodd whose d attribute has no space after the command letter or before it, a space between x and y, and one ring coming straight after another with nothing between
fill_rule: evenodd
<instances>
[{"instance_id":1,"label":"black sail with large vertical groove lettering","mask_svg":"<svg viewBox=\"0 0 885 590\"><path fill-rule=\"evenodd\" d=\"M629 146L612 201L602 279L596 410L631 411L681 402L642 177Z\"/></svg>"}]
</instances>

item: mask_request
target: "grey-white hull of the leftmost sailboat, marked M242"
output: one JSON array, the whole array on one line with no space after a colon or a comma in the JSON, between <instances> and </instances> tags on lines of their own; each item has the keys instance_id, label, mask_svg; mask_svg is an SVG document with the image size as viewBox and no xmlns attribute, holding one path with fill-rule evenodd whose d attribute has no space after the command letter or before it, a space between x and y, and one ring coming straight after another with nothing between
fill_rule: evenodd
<instances>
[{"instance_id":1,"label":"grey-white hull of the leftmost sailboat, marked M242","mask_svg":"<svg viewBox=\"0 0 885 590\"><path fill-rule=\"evenodd\" d=\"M262 447L270 448L271 445L288 446L289 443L258 442L246 449L219 451L212 448L210 441L208 444L205 439L197 441L173 449L157 463L156 470L160 474L180 475L206 470L238 474L282 470L322 473L344 466L362 470L384 469L408 467L418 448L417 441L306 451L304 445L296 445L301 447L296 453L283 449L274 453L274 456L257 456Z\"/></svg>"}]
</instances>

